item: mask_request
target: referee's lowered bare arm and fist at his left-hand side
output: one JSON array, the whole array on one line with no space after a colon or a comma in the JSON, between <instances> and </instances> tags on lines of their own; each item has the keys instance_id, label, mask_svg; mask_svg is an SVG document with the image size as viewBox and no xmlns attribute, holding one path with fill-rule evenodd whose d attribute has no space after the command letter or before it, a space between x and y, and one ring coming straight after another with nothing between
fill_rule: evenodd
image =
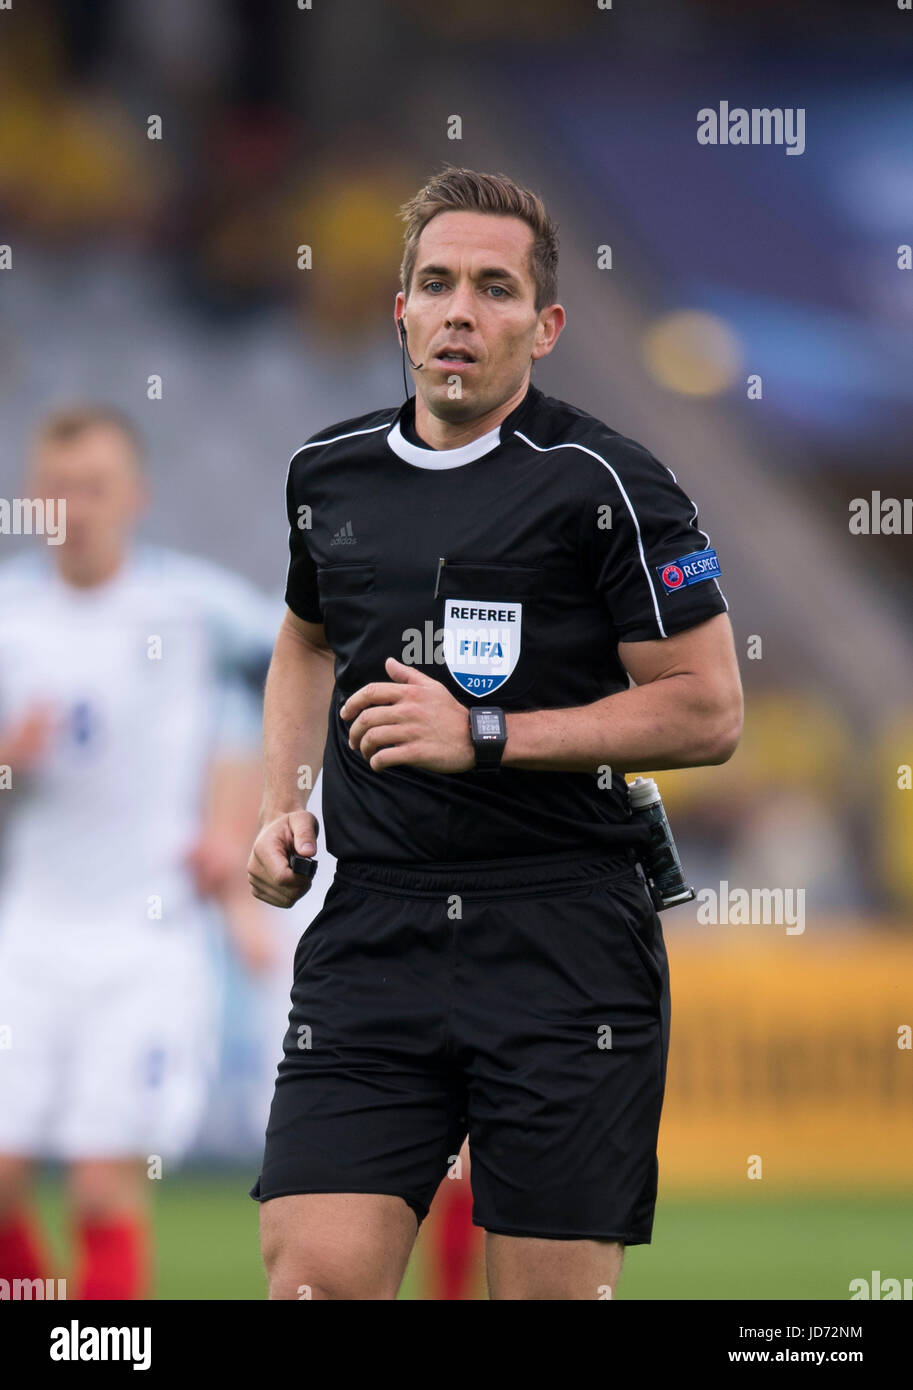
<instances>
[{"instance_id":1,"label":"referee's lowered bare arm and fist at his left-hand side","mask_svg":"<svg viewBox=\"0 0 913 1390\"><path fill-rule=\"evenodd\" d=\"M290 908L307 890L288 856L310 858L317 849L310 791L299 781L310 770L313 788L321 769L332 691L334 652L322 624L286 609L264 694L260 834L247 865L253 895L277 908Z\"/></svg>"}]
</instances>

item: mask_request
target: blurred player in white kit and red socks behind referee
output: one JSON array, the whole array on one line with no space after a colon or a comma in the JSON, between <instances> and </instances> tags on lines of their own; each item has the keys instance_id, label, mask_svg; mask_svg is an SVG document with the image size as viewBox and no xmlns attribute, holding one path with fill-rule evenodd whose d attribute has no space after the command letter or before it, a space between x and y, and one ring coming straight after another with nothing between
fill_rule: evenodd
<instances>
[{"instance_id":1,"label":"blurred player in white kit and red socks behind referee","mask_svg":"<svg viewBox=\"0 0 913 1390\"><path fill-rule=\"evenodd\" d=\"M65 541L0 566L0 1277L53 1273L28 1187L57 1156L68 1297L136 1298L147 1177L186 1152L215 1061L204 899L247 966L270 959L245 862L275 628L236 575L133 539L118 413L51 416L26 496L65 500Z\"/></svg>"}]
</instances>

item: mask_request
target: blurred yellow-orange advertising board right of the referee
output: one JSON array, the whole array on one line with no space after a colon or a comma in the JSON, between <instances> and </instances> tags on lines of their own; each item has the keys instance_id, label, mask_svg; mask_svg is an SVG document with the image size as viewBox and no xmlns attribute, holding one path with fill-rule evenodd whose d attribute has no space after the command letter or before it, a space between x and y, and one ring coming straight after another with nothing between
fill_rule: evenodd
<instances>
[{"instance_id":1,"label":"blurred yellow-orange advertising board right of the referee","mask_svg":"<svg viewBox=\"0 0 913 1390\"><path fill-rule=\"evenodd\" d=\"M660 1190L913 1190L910 926L663 931Z\"/></svg>"}]
</instances>

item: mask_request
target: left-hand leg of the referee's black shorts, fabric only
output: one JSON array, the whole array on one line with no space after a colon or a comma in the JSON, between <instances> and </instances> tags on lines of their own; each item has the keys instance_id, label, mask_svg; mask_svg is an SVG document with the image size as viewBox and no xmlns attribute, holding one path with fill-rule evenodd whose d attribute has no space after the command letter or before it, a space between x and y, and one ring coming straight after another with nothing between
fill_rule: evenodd
<instances>
[{"instance_id":1,"label":"left-hand leg of the referee's black shorts, fabric only","mask_svg":"<svg viewBox=\"0 0 913 1390\"><path fill-rule=\"evenodd\" d=\"M441 901L334 883L295 958L257 1201L375 1197L424 1220L466 1138L450 937Z\"/></svg>"}]
</instances>

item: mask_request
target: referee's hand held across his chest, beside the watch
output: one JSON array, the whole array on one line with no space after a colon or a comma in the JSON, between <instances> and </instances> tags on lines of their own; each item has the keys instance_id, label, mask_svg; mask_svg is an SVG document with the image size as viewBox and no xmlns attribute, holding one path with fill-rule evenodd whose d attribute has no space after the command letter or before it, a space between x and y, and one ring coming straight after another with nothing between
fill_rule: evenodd
<instances>
[{"instance_id":1,"label":"referee's hand held across his chest, beside the watch","mask_svg":"<svg viewBox=\"0 0 913 1390\"><path fill-rule=\"evenodd\" d=\"M395 656L388 656L384 664L395 684L371 681L339 710L342 719L352 720L349 746L375 773L400 764L431 773L471 771L475 751L466 706L441 681L414 666L404 666Z\"/></svg>"}]
</instances>

